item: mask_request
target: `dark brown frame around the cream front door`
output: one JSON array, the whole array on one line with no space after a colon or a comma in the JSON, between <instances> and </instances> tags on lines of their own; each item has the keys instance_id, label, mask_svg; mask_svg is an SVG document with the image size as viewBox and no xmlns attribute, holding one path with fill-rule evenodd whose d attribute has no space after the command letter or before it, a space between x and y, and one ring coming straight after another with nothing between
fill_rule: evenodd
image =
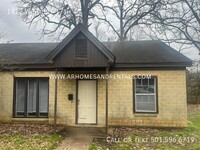
<instances>
[{"instance_id":1,"label":"dark brown frame around the cream front door","mask_svg":"<svg viewBox=\"0 0 200 150\"><path fill-rule=\"evenodd\" d=\"M78 83L79 81L96 81L96 123L78 123ZM75 114L75 124L80 125L97 125L98 124L98 80L97 79L77 79L76 80L76 114Z\"/></svg>"}]
</instances>

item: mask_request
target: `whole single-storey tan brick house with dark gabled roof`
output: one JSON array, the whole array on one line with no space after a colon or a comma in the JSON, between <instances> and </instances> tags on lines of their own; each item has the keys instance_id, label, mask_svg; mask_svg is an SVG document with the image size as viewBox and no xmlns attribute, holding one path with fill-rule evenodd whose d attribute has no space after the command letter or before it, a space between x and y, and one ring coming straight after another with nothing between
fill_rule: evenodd
<instances>
[{"instance_id":1,"label":"whole single-storey tan brick house with dark gabled roof","mask_svg":"<svg viewBox=\"0 0 200 150\"><path fill-rule=\"evenodd\" d=\"M60 43L0 44L0 121L186 127L186 67L161 41L98 41L79 24Z\"/></svg>"}]
</instances>

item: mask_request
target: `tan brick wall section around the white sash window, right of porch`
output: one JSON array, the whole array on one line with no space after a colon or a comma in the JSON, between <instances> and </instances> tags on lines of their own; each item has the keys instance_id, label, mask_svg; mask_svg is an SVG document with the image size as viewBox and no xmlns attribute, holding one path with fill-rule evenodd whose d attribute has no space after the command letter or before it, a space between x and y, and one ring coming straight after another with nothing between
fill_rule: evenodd
<instances>
[{"instance_id":1,"label":"tan brick wall section around the white sash window, right of porch","mask_svg":"<svg viewBox=\"0 0 200 150\"><path fill-rule=\"evenodd\" d=\"M128 79L109 80L109 124L183 127L187 125L185 71L127 71L115 74L150 74L158 77L159 113L133 113L133 85Z\"/></svg>"}]
</instances>

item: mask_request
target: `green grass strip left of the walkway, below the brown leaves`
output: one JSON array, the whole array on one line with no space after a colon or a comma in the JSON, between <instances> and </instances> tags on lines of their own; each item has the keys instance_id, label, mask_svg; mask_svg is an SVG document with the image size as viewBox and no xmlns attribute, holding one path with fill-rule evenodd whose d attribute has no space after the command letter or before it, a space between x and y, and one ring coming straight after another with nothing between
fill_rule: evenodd
<instances>
[{"instance_id":1,"label":"green grass strip left of the walkway, below the brown leaves","mask_svg":"<svg viewBox=\"0 0 200 150\"><path fill-rule=\"evenodd\" d=\"M53 135L0 135L0 149L5 150L53 150L62 140L58 134Z\"/></svg>"}]
</instances>

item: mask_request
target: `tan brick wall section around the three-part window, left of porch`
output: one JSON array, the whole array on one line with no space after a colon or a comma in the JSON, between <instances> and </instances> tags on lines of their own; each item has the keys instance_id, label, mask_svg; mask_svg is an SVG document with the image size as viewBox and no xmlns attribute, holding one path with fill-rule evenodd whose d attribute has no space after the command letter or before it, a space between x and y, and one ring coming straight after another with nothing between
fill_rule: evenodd
<instances>
[{"instance_id":1,"label":"tan brick wall section around the three-part window, left of porch","mask_svg":"<svg viewBox=\"0 0 200 150\"><path fill-rule=\"evenodd\" d=\"M2 121L12 121L13 114L13 86L14 77L49 77L54 72L44 71L21 71L21 72L1 72L0 78L0 119ZM49 81L49 116L54 113L54 80ZM19 119L20 120L20 119Z\"/></svg>"}]
</instances>

